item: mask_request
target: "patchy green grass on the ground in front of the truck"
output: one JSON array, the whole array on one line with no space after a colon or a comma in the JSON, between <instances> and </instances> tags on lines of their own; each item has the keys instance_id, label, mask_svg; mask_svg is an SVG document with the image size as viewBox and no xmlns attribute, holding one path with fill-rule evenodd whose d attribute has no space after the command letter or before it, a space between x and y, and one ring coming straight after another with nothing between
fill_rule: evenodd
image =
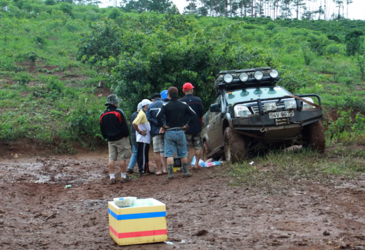
<instances>
[{"instance_id":1,"label":"patchy green grass on the ground in front of the truck","mask_svg":"<svg viewBox=\"0 0 365 250\"><path fill-rule=\"evenodd\" d=\"M356 178L362 173L365 173L365 148L338 147L330 149L327 155L308 149L272 151L229 166L234 184L263 188L267 193L286 193L288 187L306 181L329 184L333 179Z\"/></svg>"}]
</instances>

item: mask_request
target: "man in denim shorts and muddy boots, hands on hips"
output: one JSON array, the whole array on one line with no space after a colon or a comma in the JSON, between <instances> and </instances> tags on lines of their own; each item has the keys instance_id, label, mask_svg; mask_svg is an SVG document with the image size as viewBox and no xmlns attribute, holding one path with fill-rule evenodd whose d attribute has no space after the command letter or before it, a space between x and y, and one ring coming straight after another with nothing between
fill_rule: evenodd
<instances>
[{"instance_id":1,"label":"man in denim shorts and muddy boots, hands on hips","mask_svg":"<svg viewBox=\"0 0 365 250\"><path fill-rule=\"evenodd\" d=\"M175 148L177 157L183 165L183 177L190 177L189 164L187 162L185 131L192 125L196 116L194 110L186 103L179 102L179 91L176 87L167 90L168 102L164 103L157 112L157 123L165 132L165 157L167 157L168 179L174 178L174 154ZM164 125L164 115L166 125ZM187 123L186 123L187 120Z\"/></svg>"}]
</instances>

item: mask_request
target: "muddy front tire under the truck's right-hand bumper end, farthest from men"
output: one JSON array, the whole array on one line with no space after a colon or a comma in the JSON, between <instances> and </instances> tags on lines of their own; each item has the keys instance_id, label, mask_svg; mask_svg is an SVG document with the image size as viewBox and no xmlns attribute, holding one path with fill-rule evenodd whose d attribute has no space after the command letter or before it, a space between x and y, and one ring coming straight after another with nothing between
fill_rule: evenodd
<instances>
[{"instance_id":1,"label":"muddy front tire under the truck's right-hand bumper end, farthest from men","mask_svg":"<svg viewBox=\"0 0 365 250\"><path fill-rule=\"evenodd\" d=\"M323 154L326 148L326 134L322 122L319 121L307 126L306 136L308 143L305 146Z\"/></svg>"}]
</instances>

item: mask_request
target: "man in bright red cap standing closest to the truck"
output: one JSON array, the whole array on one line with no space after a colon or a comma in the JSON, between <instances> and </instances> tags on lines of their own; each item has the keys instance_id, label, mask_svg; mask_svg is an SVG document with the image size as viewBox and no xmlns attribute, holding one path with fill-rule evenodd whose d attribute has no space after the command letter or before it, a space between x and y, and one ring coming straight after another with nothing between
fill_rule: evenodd
<instances>
[{"instance_id":1,"label":"man in bright red cap standing closest to the truck","mask_svg":"<svg viewBox=\"0 0 365 250\"><path fill-rule=\"evenodd\" d=\"M203 106L201 104L201 99L193 95L193 89L194 86L191 83L185 83L183 85L185 96L180 99L180 101L188 104L197 114L193 119L193 125L185 131L187 152L189 153L189 149L191 145L193 145L196 158L194 167L197 168L199 167L199 160L201 158L201 119L203 117ZM191 159L192 157L189 159L189 162L191 162Z\"/></svg>"}]
</instances>

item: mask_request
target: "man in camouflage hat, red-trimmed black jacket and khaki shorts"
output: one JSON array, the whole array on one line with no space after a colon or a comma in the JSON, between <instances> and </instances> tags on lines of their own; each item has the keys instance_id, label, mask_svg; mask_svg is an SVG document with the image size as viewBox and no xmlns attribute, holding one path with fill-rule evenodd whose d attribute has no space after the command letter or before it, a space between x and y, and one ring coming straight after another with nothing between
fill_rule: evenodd
<instances>
[{"instance_id":1,"label":"man in camouflage hat, red-trimmed black jacket and khaki shorts","mask_svg":"<svg viewBox=\"0 0 365 250\"><path fill-rule=\"evenodd\" d=\"M118 99L116 95L108 96L105 104L107 109L100 115L100 130L109 145L109 175L110 184L115 184L114 161L119 156L121 182L128 182L130 179L126 175L126 159L130 158L129 130L123 110L118 109Z\"/></svg>"}]
</instances>

